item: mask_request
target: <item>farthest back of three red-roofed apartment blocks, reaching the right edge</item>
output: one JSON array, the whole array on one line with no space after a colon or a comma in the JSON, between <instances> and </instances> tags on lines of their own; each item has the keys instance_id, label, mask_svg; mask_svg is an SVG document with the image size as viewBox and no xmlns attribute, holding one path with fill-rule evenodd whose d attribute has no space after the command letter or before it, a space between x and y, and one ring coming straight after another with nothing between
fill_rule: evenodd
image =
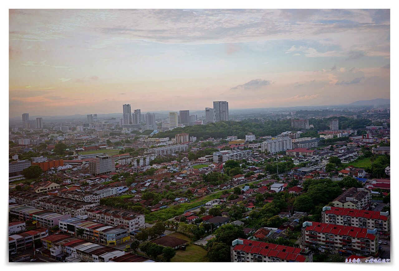
<instances>
[{"instance_id":1,"label":"farthest back of three red-roofed apartment blocks, reaching the right edge","mask_svg":"<svg viewBox=\"0 0 399 271\"><path fill-rule=\"evenodd\" d=\"M349 209L325 206L322 211L322 222L343 226L355 226L369 230L377 229L380 234L389 234L389 212Z\"/></svg>"}]
</instances>

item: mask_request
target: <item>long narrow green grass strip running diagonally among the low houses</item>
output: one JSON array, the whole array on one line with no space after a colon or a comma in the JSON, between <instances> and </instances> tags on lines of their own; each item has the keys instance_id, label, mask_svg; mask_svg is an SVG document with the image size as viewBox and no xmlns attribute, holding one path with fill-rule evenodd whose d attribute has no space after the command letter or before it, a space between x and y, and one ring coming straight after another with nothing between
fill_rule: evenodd
<instances>
[{"instance_id":1,"label":"long narrow green grass strip running diagonally among the low houses","mask_svg":"<svg viewBox=\"0 0 399 271\"><path fill-rule=\"evenodd\" d=\"M217 199L220 197L220 195L223 195L225 193L229 193L229 190L223 190L219 191L217 193L213 193L211 195L207 195L205 197L199 198L199 199L194 199L190 203L182 203L179 205L174 205L170 206L168 208L165 208L160 211L152 212L150 214L145 215L145 221L147 223L152 223L154 220L158 221L166 221L172 217L178 216L180 214L183 214L184 211L197 207L198 205L205 204L207 201L210 201L211 199Z\"/></svg>"}]
</instances>

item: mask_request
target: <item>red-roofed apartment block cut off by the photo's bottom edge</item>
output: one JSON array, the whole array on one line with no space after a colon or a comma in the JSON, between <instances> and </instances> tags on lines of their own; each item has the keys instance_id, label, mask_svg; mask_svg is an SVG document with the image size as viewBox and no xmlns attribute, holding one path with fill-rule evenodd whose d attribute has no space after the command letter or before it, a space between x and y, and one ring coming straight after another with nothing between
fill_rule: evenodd
<instances>
[{"instance_id":1,"label":"red-roofed apartment block cut off by the photo's bottom edge","mask_svg":"<svg viewBox=\"0 0 399 271\"><path fill-rule=\"evenodd\" d=\"M231 262L312 262L313 254L304 248L276 245L238 238L232 242Z\"/></svg>"}]
</instances>

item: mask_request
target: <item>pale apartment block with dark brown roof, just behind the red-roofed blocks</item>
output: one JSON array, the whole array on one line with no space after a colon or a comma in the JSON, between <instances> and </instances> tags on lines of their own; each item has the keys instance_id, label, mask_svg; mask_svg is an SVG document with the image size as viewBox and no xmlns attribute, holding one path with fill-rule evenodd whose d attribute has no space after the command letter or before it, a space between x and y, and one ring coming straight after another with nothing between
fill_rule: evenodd
<instances>
[{"instance_id":1,"label":"pale apartment block with dark brown roof, just behind the red-roofed blocks","mask_svg":"<svg viewBox=\"0 0 399 271\"><path fill-rule=\"evenodd\" d=\"M332 201L334 207L364 209L371 201L371 191L367 188L352 187Z\"/></svg>"}]
</instances>

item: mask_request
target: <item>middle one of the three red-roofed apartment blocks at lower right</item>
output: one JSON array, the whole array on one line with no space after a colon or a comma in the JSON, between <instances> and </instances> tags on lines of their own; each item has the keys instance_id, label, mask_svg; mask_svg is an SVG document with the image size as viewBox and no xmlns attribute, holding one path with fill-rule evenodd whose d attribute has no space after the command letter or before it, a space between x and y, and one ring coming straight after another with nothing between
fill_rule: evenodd
<instances>
[{"instance_id":1,"label":"middle one of the three red-roofed apartment blocks at lower right","mask_svg":"<svg viewBox=\"0 0 399 271\"><path fill-rule=\"evenodd\" d=\"M343 255L375 255L378 252L377 229L306 221L302 224L302 245L330 250Z\"/></svg>"}]
</instances>

